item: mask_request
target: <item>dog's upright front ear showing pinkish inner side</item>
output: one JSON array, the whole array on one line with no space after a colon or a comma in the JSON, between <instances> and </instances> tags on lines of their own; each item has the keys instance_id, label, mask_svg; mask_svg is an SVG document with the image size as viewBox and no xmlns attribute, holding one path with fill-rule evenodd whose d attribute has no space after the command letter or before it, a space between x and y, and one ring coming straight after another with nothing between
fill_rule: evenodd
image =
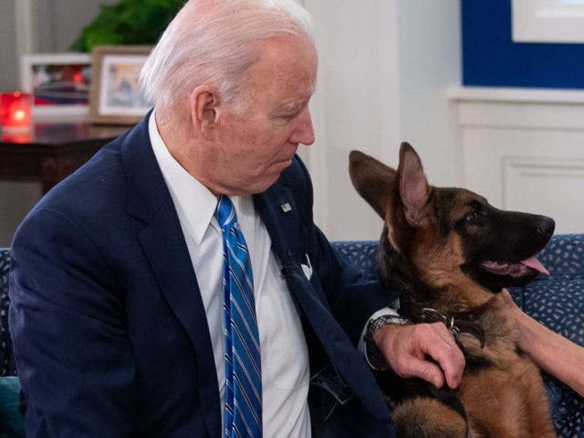
<instances>
[{"instance_id":1,"label":"dog's upright front ear showing pinkish inner side","mask_svg":"<svg viewBox=\"0 0 584 438\"><path fill-rule=\"evenodd\" d=\"M409 143L401 143L399 148L399 196L404 205L404 216L410 225L423 225L427 216L425 207L430 197L428 180L424 174L424 167L414 148Z\"/></svg>"}]
</instances>

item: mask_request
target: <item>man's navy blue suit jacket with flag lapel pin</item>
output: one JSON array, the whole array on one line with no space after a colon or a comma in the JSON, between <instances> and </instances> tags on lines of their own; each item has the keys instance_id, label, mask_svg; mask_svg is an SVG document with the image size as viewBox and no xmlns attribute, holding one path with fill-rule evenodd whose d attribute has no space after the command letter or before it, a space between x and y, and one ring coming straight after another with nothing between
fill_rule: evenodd
<instances>
[{"instance_id":1,"label":"man's navy blue suit jacket with flag lapel pin","mask_svg":"<svg viewBox=\"0 0 584 438\"><path fill-rule=\"evenodd\" d=\"M393 435L354 344L366 317L395 297L337 259L313 224L299 158L254 201L302 317L317 435ZM147 118L32 209L11 267L28 437L220 437L205 309Z\"/></svg>"}]
</instances>

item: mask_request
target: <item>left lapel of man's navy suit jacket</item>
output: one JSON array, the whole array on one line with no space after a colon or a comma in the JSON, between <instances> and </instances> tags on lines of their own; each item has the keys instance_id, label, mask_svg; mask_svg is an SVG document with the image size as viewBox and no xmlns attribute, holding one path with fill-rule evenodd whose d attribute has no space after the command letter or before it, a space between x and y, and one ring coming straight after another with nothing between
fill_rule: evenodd
<instances>
[{"instance_id":1,"label":"left lapel of man's navy suit jacket","mask_svg":"<svg viewBox=\"0 0 584 438\"><path fill-rule=\"evenodd\" d=\"M128 212L143 222L138 240L171 310L196 351L202 417L220 435L220 399L207 315L174 203L150 144L148 117L124 141ZM178 376L180 377L180 376Z\"/></svg>"}]
</instances>

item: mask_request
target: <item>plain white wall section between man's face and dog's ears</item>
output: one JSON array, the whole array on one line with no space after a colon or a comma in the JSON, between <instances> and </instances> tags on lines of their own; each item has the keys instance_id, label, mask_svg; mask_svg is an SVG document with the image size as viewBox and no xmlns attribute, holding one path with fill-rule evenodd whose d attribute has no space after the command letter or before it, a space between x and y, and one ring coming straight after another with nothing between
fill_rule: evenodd
<instances>
[{"instance_id":1,"label":"plain white wall section between man's face and dog's ears","mask_svg":"<svg viewBox=\"0 0 584 438\"><path fill-rule=\"evenodd\" d=\"M381 156L397 143L395 2L306 0L320 54L313 101L316 142L308 151L315 220L329 238L377 238L381 222L348 178L348 153ZM365 234L362 234L366 231Z\"/></svg>"}]
</instances>

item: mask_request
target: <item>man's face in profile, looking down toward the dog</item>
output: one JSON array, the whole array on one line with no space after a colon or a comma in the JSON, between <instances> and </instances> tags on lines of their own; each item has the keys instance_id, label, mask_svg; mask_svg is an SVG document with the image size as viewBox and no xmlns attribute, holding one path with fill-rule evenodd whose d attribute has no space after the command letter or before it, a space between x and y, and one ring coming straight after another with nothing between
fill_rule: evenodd
<instances>
[{"instance_id":1,"label":"man's face in profile, looking down toward the dog","mask_svg":"<svg viewBox=\"0 0 584 438\"><path fill-rule=\"evenodd\" d=\"M266 190L291 165L298 145L314 142L308 105L316 83L315 48L291 36L262 44L260 61L243 87L244 110L236 114L223 107L218 113L213 171L219 171L222 193Z\"/></svg>"}]
</instances>

